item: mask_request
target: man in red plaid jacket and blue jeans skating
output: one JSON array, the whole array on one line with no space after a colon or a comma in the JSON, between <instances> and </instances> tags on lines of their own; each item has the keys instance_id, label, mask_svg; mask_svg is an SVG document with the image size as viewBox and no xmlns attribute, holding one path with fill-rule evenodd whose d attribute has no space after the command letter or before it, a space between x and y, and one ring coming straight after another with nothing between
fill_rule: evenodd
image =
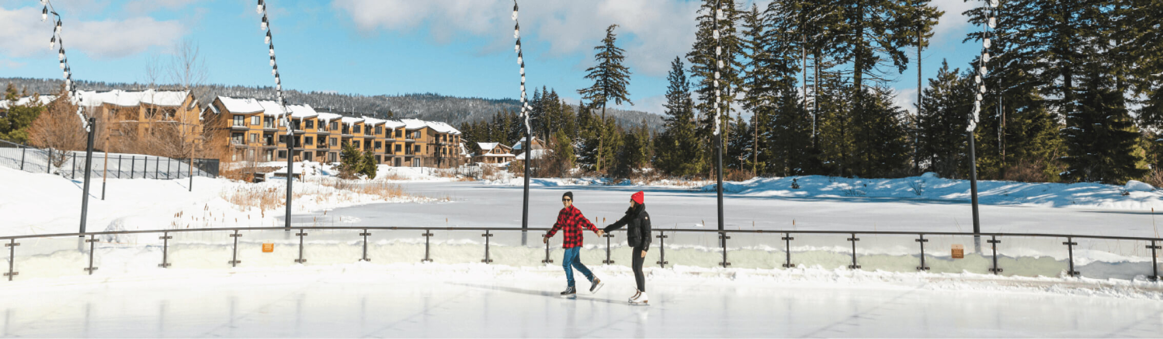
<instances>
[{"instance_id":1,"label":"man in red plaid jacket and blue jeans skating","mask_svg":"<svg viewBox=\"0 0 1163 339\"><path fill-rule=\"evenodd\" d=\"M565 255L562 258L562 267L565 268L565 281L569 283L569 287L565 288L565 291L562 291L562 296L569 297L577 294L577 289L573 288L575 268L582 272L582 274L590 280L590 293L598 291L598 289L602 286L601 280L593 276L590 268L586 268L585 265L582 264L582 259L578 254L582 250L582 228L593 231L594 233L598 233L598 236L601 236L604 232L598 230L593 223L587 221L585 216L582 215L580 210L573 207L572 192L566 192L562 195L562 204L565 205L565 208L557 214L557 223L554 223L554 229L549 230L549 233L545 233L545 238L542 239L542 241L549 243L549 238L552 238L554 235L557 233L557 230L562 230L564 233L565 241L562 247L565 248Z\"/></svg>"}]
</instances>

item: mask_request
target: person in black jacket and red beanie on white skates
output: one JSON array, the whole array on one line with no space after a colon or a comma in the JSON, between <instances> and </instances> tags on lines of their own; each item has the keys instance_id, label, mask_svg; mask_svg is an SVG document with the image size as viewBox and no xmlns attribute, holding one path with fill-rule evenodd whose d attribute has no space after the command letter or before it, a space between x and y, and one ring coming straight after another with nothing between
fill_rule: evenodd
<instances>
[{"instance_id":1,"label":"person in black jacket and red beanie on white skates","mask_svg":"<svg viewBox=\"0 0 1163 339\"><path fill-rule=\"evenodd\" d=\"M637 283L637 293L630 297L629 302L635 304L647 303L647 279L642 275L642 261L647 258L647 251L650 250L650 214L647 212L647 205L643 203L645 200L645 194L641 190L630 195L630 208L626 210L626 216L622 216L618 222L606 226L602 231L609 232L613 230L621 229L626 226L626 241L627 245L634 247L632 252L632 268L634 268L634 281Z\"/></svg>"}]
</instances>

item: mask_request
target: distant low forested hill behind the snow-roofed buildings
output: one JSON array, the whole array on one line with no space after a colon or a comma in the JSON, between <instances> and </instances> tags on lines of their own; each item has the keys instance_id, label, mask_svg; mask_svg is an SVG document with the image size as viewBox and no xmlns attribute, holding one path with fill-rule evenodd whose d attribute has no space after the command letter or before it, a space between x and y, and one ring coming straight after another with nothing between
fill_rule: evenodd
<instances>
[{"instance_id":1,"label":"distant low forested hill behind the snow-roofed buildings","mask_svg":"<svg viewBox=\"0 0 1163 339\"><path fill-rule=\"evenodd\" d=\"M29 93L56 93L59 91L62 80L57 79L31 79L31 78L0 78L0 86L13 84L16 88L27 88ZM130 89L141 91L150 88L145 84L124 82L97 82L77 81L78 88L85 91L110 91ZM158 86L158 89L167 89L172 86ZM205 96L216 95L236 98L274 98L274 87L247 87L228 85L206 85ZM480 121L491 118L498 110L518 110L520 102L513 99L485 99L485 98L457 98L445 96L435 93L404 94L404 95L359 95L338 94L324 92L284 92L288 103L306 103L319 110L331 110L336 113L352 113L355 115L368 115L376 117L394 116L412 117L431 121L443 121L452 125L462 122ZM204 103L206 101L204 100ZM577 104L577 103L571 103ZM576 108L576 107L575 107ZM662 116L637 110L606 109L608 116L615 117L623 125L637 125L643 120L652 129L662 128Z\"/></svg>"}]
</instances>

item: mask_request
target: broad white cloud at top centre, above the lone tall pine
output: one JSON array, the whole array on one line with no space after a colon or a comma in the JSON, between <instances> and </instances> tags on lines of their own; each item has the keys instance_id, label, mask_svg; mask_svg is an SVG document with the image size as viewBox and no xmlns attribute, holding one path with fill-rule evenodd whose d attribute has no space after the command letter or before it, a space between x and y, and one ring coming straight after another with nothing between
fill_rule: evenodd
<instances>
[{"instance_id":1,"label":"broad white cloud at top centre, above the lone tall pine","mask_svg":"<svg viewBox=\"0 0 1163 339\"><path fill-rule=\"evenodd\" d=\"M483 52L512 51L513 2L508 0L338 0L333 7L349 15L363 31L411 31L428 28L434 39L448 43L461 34L485 37ZM698 1L670 0L543 0L521 5L522 42L527 56L559 57L591 49L612 23L619 24L619 44L635 74L661 77L675 56L694 42ZM534 38L530 41L530 36ZM529 48L541 45L537 51ZM588 57L585 58L586 63Z\"/></svg>"}]
</instances>

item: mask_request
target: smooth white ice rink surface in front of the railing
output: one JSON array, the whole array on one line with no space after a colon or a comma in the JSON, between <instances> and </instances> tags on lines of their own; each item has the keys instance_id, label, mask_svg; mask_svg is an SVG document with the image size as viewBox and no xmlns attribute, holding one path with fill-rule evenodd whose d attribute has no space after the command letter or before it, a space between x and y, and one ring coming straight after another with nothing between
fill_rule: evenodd
<instances>
[{"instance_id":1,"label":"smooth white ice rink surface in front of the railing","mask_svg":"<svg viewBox=\"0 0 1163 339\"><path fill-rule=\"evenodd\" d=\"M1054 289L918 281L786 282L595 272L597 294L562 298L558 269L357 264L152 276L62 277L0 290L2 337L861 337L1157 338L1163 302ZM443 267L428 269L428 267ZM492 271L491 271L492 269ZM580 277L580 275L578 275ZM583 280L584 283L584 280ZM987 286L987 284L986 284Z\"/></svg>"}]
</instances>

